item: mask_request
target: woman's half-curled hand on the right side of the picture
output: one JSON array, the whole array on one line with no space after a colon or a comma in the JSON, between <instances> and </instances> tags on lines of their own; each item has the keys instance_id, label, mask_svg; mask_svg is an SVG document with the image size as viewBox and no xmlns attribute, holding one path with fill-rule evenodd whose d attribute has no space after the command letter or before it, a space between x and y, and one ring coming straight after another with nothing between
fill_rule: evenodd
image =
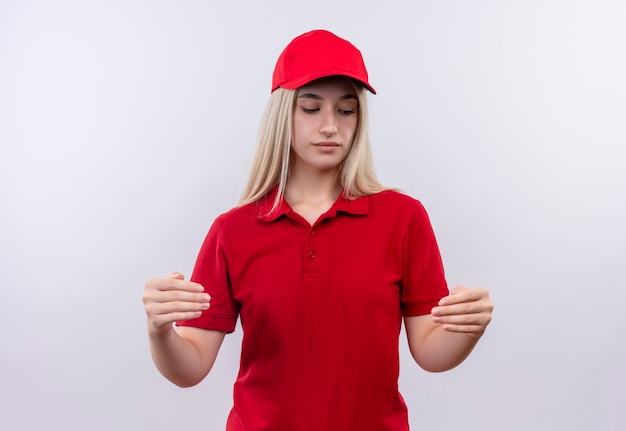
<instances>
[{"instance_id":1,"label":"woman's half-curled hand on the right side of the picture","mask_svg":"<svg viewBox=\"0 0 626 431\"><path fill-rule=\"evenodd\" d=\"M486 289L456 286L432 309L433 321L449 332L479 338L491 322L493 304Z\"/></svg>"}]
</instances>

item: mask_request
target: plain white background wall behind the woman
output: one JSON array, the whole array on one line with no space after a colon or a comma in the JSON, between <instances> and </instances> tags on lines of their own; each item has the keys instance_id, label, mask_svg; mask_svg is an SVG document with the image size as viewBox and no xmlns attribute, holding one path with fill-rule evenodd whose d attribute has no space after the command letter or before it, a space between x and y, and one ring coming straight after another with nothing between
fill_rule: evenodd
<instances>
[{"instance_id":1,"label":"plain white background wall behind the woman","mask_svg":"<svg viewBox=\"0 0 626 431\"><path fill-rule=\"evenodd\" d=\"M0 1L0 427L224 428L240 329L176 388L143 284L191 272L280 51L327 28L379 92L380 178L496 306L451 372L403 341L413 429L623 429L625 23L619 0Z\"/></svg>"}]
</instances>

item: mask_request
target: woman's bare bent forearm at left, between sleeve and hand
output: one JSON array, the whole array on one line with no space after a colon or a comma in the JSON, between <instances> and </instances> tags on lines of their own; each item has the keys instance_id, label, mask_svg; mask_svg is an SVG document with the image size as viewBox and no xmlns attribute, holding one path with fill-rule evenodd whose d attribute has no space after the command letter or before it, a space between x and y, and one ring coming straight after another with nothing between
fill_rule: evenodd
<instances>
[{"instance_id":1,"label":"woman's bare bent forearm at left, between sleeve and hand","mask_svg":"<svg viewBox=\"0 0 626 431\"><path fill-rule=\"evenodd\" d=\"M208 331L206 331L208 332ZM180 387L194 386L202 381L211 370L223 334L214 338L214 355L206 355L197 344L181 336L174 328L168 334L150 334L150 351L159 372ZM196 341L197 343L198 341Z\"/></svg>"}]
</instances>

